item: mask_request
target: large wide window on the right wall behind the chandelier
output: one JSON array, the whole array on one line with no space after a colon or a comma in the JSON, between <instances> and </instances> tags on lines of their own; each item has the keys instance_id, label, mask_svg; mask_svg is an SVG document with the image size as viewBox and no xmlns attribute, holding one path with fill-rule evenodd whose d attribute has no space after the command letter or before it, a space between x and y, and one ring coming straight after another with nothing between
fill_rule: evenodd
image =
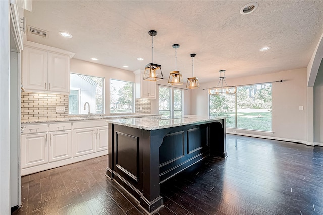
<instances>
[{"instance_id":1,"label":"large wide window on the right wall behind the chandelier","mask_svg":"<svg viewBox=\"0 0 323 215\"><path fill-rule=\"evenodd\" d=\"M227 127L272 131L272 84L237 87L236 95L209 101L210 115L227 116Z\"/></svg>"}]
</instances>

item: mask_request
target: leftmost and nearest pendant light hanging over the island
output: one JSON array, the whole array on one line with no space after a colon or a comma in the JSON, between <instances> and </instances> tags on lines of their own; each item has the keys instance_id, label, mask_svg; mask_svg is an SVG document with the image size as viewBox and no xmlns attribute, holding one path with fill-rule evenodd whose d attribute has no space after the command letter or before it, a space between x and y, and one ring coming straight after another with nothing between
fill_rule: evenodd
<instances>
[{"instance_id":1,"label":"leftmost and nearest pendant light hanging over the island","mask_svg":"<svg viewBox=\"0 0 323 215\"><path fill-rule=\"evenodd\" d=\"M153 63L153 37L157 35L157 31L150 30L148 33L150 36L152 36L152 63L146 65L143 80L155 82L163 79L161 65Z\"/></svg>"}]
</instances>

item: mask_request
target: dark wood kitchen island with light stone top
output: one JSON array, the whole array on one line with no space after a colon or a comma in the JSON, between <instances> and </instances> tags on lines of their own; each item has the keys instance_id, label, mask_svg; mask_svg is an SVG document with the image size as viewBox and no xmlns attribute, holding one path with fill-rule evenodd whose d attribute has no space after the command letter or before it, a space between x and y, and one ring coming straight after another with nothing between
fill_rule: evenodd
<instances>
[{"instance_id":1,"label":"dark wood kitchen island with light stone top","mask_svg":"<svg viewBox=\"0 0 323 215\"><path fill-rule=\"evenodd\" d=\"M160 183L208 155L227 157L226 117L150 116L107 122L106 175L149 213L163 206Z\"/></svg>"}]
</instances>

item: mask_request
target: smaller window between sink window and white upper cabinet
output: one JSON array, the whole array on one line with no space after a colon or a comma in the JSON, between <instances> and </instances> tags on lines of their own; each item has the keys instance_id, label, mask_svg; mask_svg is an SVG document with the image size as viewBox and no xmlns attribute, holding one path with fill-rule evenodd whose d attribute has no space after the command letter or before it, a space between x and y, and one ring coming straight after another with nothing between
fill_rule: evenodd
<instances>
[{"instance_id":1,"label":"smaller window between sink window and white upper cabinet","mask_svg":"<svg viewBox=\"0 0 323 215\"><path fill-rule=\"evenodd\" d=\"M110 79L110 113L133 113L133 82Z\"/></svg>"}]
</instances>

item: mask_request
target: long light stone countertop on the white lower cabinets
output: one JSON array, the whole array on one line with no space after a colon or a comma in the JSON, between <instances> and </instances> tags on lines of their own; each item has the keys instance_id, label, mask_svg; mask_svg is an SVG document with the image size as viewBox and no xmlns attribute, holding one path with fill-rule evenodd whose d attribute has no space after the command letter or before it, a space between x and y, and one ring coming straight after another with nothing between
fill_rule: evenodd
<instances>
[{"instance_id":1,"label":"long light stone countertop on the white lower cabinets","mask_svg":"<svg viewBox=\"0 0 323 215\"><path fill-rule=\"evenodd\" d=\"M26 123L47 123L47 122L68 122L68 121L84 121L84 120L95 120L95 119L124 119L124 118L140 118L158 116L159 114L129 114L129 115L91 115L91 116L73 116L65 118L44 118L44 119L24 119L21 120L21 124Z\"/></svg>"}]
</instances>

